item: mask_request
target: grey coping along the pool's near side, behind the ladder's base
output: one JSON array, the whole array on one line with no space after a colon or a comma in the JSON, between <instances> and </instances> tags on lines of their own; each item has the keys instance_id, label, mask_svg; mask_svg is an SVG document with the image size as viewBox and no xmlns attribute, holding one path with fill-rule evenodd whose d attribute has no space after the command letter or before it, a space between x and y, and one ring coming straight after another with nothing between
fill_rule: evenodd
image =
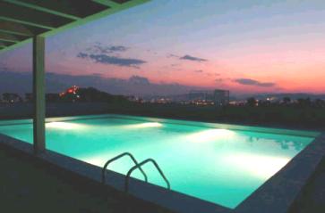
<instances>
[{"instance_id":1,"label":"grey coping along the pool's near side, behind the ladder's base","mask_svg":"<svg viewBox=\"0 0 325 213\"><path fill-rule=\"evenodd\" d=\"M0 143L29 154L37 158L38 160L44 160L47 163L54 164L59 168L69 170L77 175L89 178L92 181L101 183L101 168L90 163L73 159L69 156L62 155L57 152L47 150L41 154L34 154L33 146L30 143L23 142L8 135L0 134ZM114 171L107 170L106 185L115 188L118 191L124 191L124 176ZM178 193L175 191L169 191L163 187L154 184L144 183L133 177L130 179L130 194L143 201L150 201L158 204L166 209L170 209L179 213L230 213L232 209L220 206L218 204L203 201L201 199L186 195L184 193Z\"/></svg>"}]
</instances>

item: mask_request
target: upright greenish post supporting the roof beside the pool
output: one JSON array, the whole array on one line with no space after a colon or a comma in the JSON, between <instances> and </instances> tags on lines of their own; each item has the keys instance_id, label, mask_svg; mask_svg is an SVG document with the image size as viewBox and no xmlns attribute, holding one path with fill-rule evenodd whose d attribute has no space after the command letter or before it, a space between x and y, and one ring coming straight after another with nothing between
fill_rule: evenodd
<instances>
[{"instance_id":1,"label":"upright greenish post supporting the roof beside the pool","mask_svg":"<svg viewBox=\"0 0 325 213\"><path fill-rule=\"evenodd\" d=\"M33 37L33 100L34 152L41 153L45 145L45 37Z\"/></svg>"}]
</instances>

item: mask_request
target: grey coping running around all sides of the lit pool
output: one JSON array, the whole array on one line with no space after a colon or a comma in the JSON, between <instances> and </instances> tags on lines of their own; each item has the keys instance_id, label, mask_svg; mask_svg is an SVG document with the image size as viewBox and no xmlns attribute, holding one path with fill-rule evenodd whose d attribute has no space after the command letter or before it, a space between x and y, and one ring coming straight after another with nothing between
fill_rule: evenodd
<instances>
[{"instance_id":1,"label":"grey coping running around all sides of the lit pool","mask_svg":"<svg viewBox=\"0 0 325 213\"><path fill-rule=\"evenodd\" d=\"M112 114L108 114L112 117ZM107 115L91 116L89 118L103 118ZM113 115L121 118L120 115ZM124 117L124 116L123 116ZM124 118L127 118L126 116ZM133 116L131 116L134 118ZM69 118L85 118L85 117L68 117ZM138 117L136 117L138 118ZM56 121L58 118L49 119ZM150 118L152 119L152 118ZM61 118L62 120L62 118ZM142 119L147 120L147 118ZM152 119L152 121L163 121L166 119ZM180 120L182 121L182 120ZM188 122L188 121L184 121ZM194 124L202 123L193 121ZM179 122L177 121L179 124ZM210 126L210 123L208 123ZM228 126L228 125L226 125ZM223 126L222 127L226 127ZM231 125L234 127L233 125ZM215 126L212 123L211 127L220 127L220 124ZM235 125L236 127L236 125ZM260 128L261 129L261 128ZM262 128L264 129L264 128ZM273 130L273 129L272 129ZM278 129L277 129L278 130ZM250 128L250 131L254 131ZM287 132L286 129L283 132ZM68 156L64 156L57 152L47 150L46 152L35 155L33 153L33 146L30 143L22 142L13 137L0 134L0 143L13 147L21 152L34 155L39 160L45 160L49 163L55 164L60 168L64 168L74 173L88 177L94 181L100 182L101 168L91 165L87 162L76 160ZM278 173L271 176L264 184L262 184L255 192L240 203L235 209L227 209L218 204L203 201L198 198L178 193L175 191L168 191L167 189L154 185L147 184L137 179L131 178L130 193L144 201L150 201L163 206L167 209L174 210L180 213L205 212L205 213L285 213L294 203L295 198L304 187L304 184L312 176L313 171L325 156L325 133L320 133L312 143L308 144L304 150L298 153L292 160L290 160L284 168L281 168ZM124 176L113 171L107 172L107 185L114 187L119 191L124 190Z\"/></svg>"}]
</instances>

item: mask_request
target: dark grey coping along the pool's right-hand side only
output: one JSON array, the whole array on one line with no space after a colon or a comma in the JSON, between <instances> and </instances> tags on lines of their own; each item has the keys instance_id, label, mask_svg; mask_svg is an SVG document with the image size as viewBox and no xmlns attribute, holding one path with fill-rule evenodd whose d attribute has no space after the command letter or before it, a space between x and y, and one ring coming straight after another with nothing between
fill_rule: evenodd
<instances>
[{"instance_id":1,"label":"dark grey coping along the pool's right-hand side only","mask_svg":"<svg viewBox=\"0 0 325 213\"><path fill-rule=\"evenodd\" d=\"M236 213L286 213L325 157L325 132L240 203Z\"/></svg>"}]
</instances>

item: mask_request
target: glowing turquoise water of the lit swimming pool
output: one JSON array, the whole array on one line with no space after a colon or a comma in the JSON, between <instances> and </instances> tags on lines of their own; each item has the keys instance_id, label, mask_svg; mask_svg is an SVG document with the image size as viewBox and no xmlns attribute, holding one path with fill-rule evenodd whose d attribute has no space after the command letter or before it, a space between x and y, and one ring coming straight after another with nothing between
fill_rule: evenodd
<instances>
[{"instance_id":1,"label":"glowing turquoise water of the lit swimming pool","mask_svg":"<svg viewBox=\"0 0 325 213\"><path fill-rule=\"evenodd\" d=\"M49 121L49 150L99 167L122 152L132 152L139 161L153 158L172 190L232 209L313 140L312 136L232 130L168 119L107 116ZM0 133L31 143L30 122L14 123L0 122ZM132 166L131 160L123 158L109 169L126 174ZM166 186L152 165L143 169L150 183ZM133 176L142 179L139 171Z\"/></svg>"}]
</instances>

